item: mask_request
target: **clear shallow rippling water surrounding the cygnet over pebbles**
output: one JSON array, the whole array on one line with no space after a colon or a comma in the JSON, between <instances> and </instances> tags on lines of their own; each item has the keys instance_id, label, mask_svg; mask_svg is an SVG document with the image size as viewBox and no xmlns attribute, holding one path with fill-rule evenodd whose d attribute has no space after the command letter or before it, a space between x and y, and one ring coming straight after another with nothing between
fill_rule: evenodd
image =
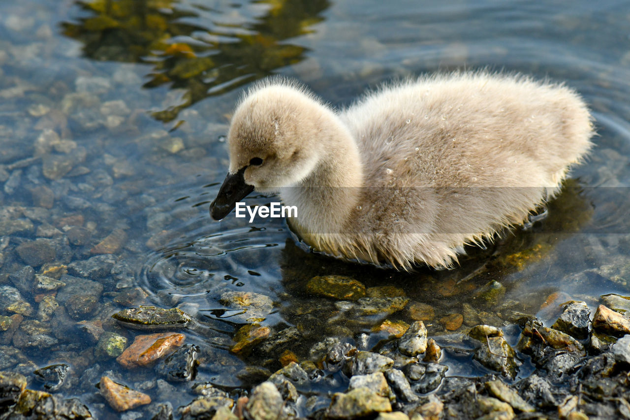
<instances>
[{"instance_id":1,"label":"clear shallow rippling water surrounding the cygnet over pebbles","mask_svg":"<svg viewBox=\"0 0 630 420\"><path fill-rule=\"evenodd\" d=\"M10 284L6 275L25 264L18 245L62 240L62 218L83 216L89 239L66 245L69 254L51 264L88 259L92 247L122 229L127 238L113 255L130 276L94 276L105 293L88 318L107 319L126 307L113 301L117 294L139 286L147 298L136 305L179 306L195 316L199 324L186 331L187 340L213 361L200 366L198 380L228 388L243 385L235 374L246 365L272 371L279 365L277 354L229 352L246 321L222 305L226 291L272 298L273 310L261 323L297 327L302 338L287 348L301 359L323 337L371 348L387 338L371 332L383 318L411 322L405 311L355 317L340 303L309 296L305 286L313 276L341 274L368 287L402 289L432 306L426 324L430 336L444 335L443 344L466 329L465 321L455 332L445 330L440 319L453 313L476 313L471 325L513 325L522 315L544 317L539 310L553 293L592 308L600 295L630 295L628 18L628 1L579 1L570 9L554 1L0 3L0 202L9 225L32 221L17 231L3 225L0 284ZM506 233L486 250L469 248L457 269L400 273L309 253L277 219L210 219L208 206L227 168L229 115L248 83L282 74L347 105L382 81L462 68L566 83L592 108L596 146L542 221ZM38 141L45 130L74 143ZM55 166L55 159L62 164ZM37 189L42 186L47 190ZM43 207L42 195L49 199ZM9 214L10 206L18 216ZM48 225L59 233L38 230ZM505 289L488 295L492 282ZM37 308L35 296L24 297ZM31 365L87 349L72 331L43 352L23 349L30 364L9 370L28 375ZM99 363L130 384L152 376L122 371L112 360ZM445 363L449 375L486 371L455 356ZM520 375L529 372L522 368ZM93 391L72 387L66 394ZM177 406L192 395L165 398Z\"/></svg>"}]
</instances>

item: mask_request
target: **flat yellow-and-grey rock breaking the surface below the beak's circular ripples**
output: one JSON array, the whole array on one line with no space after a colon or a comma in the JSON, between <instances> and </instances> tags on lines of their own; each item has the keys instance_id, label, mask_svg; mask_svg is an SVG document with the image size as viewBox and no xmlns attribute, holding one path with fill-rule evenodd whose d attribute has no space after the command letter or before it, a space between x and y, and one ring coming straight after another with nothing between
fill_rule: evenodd
<instances>
[{"instance_id":1,"label":"flat yellow-and-grey rock breaking the surface below the beak's circular ripples","mask_svg":"<svg viewBox=\"0 0 630 420\"><path fill-rule=\"evenodd\" d=\"M273 300L260 293L227 291L221 294L221 305L232 308L223 318L230 322L262 322L273 311Z\"/></svg>"}]
</instances>

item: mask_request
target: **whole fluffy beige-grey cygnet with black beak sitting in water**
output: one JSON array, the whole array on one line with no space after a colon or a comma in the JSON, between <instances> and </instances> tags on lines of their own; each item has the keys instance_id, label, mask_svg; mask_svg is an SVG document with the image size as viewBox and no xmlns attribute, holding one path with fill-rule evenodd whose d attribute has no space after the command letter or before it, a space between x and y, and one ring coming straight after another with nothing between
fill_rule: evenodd
<instances>
[{"instance_id":1,"label":"whole fluffy beige-grey cygnet with black beak sitting in water","mask_svg":"<svg viewBox=\"0 0 630 420\"><path fill-rule=\"evenodd\" d=\"M232 117L222 219L254 189L297 206L292 230L335 257L450 267L556 194L592 146L580 96L524 76L453 73L384 85L335 110L258 83Z\"/></svg>"}]
</instances>

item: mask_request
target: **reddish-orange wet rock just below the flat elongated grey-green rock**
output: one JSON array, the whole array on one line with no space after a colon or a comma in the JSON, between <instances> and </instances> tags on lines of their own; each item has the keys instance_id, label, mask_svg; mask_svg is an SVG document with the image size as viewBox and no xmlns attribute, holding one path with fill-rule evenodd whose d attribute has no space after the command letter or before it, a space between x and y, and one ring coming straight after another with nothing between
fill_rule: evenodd
<instances>
[{"instance_id":1,"label":"reddish-orange wet rock just below the flat elongated grey-green rock","mask_svg":"<svg viewBox=\"0 0 630 420\"><path fill-rule=\"evenodd\" d=\"M131 346L127 347L116 359L125 368L149 366L158 359L173 353L184 342L183 334L159 332L157 334L137 335Z\"/></svg>"}]
</instances>

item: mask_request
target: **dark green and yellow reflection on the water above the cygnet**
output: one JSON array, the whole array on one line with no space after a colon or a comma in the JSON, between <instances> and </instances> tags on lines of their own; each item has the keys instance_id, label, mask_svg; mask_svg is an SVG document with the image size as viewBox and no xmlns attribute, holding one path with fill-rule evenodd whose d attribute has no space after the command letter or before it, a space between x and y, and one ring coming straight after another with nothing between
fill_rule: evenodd
<instances>
[{"instance_id":1,"label":"dark green and yellow reflection on the water above the cygnet","mask_svg":"<svg viewBox=\"0 0 630 420\"><path fill-rule=\"evenodd\" d=\"M152 65L146 88L183 88L182 102L152 115L163 122L203 98L221 95L305 58L307 49L287 42L312 32L327 0L261 0L262 16L185 5L179 1L77 1L84 16L62 23L64 35L83 42L86 57ZM227 16L227 17L226 17Z\"/></svg>"}]
</instances>

